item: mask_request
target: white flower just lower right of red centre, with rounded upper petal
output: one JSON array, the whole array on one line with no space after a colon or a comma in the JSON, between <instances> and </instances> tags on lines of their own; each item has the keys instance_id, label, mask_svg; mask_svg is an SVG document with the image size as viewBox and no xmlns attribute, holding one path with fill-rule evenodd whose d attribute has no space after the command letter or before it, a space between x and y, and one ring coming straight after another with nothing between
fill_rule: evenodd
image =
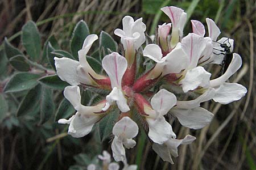
<instances>
[{"instance_id":1,"label":"white flower just lower right of red centre, with rounded upper petal","mask_svg":"<svg viewBox=\"0 0 256 170\"><path fill-rule=\"evenodd\" d=\"M151 99L151 107L144 105L144 116L148 123L148 137L153 142L162 144L171 137L176 138L172 126L166 121L164 115L176 104L176 96L167 90L160 90Z\"/></svg>"}]
</instances>

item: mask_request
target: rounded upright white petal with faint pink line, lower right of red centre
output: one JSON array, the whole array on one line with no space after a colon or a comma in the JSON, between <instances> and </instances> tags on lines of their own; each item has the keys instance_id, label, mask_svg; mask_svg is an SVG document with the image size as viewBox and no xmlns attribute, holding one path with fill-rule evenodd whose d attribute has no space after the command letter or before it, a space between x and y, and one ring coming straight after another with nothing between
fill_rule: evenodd
<instances>
[{"instance_id":1,"label":"rounded upright white petal with faint pink line, lower right of red centre","mask_svg":"<svg viewBox=\"0 0 256 170\"><path fill-rule=\"evenodd\" d=\"M155 111L159 112L161 115L164 115L170 111L172 107L174 107L176 102L177 99L174 94L162 89L152 97L151 106Z\"/></svg>"}]
</instances>

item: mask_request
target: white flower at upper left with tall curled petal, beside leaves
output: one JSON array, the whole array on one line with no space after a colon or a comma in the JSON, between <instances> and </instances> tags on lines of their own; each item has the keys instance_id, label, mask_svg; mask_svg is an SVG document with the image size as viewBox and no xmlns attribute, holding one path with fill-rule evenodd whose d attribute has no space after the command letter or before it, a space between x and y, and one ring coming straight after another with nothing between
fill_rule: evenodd
<instances>
[{"instance_id":1,"label":"white flower at upper left with tall curled petal, beside leaves","mask_svg":"<svg viewBox=\"0 0 256 170\"><path fill-rule=\"evenodd\" d=\"M61 80L68 82L71 85L79 85L81 83L86 85L95 85L95 82L91 76L96 79L105 78L104 76L95 73L86 60L86 54L88 53L93 42L97 39L98 36L95 34L88 35L86 37L84 44L82 45L82 49L78 52L79 61L66 57L54 57L56 73Z\"/></svg>"}]
</instances>

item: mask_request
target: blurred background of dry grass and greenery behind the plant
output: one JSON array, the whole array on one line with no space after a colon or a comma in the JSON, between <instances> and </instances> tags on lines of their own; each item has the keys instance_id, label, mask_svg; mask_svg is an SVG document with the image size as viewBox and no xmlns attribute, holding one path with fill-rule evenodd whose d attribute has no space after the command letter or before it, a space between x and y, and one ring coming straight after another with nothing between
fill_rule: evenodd
<instances>
[{"instance_id":1,"label":"blurred background of dry grass and greenery behind the plant","mask_svg":"<svg viewBox=\"0 0 256 170\"><path fill-rule=\"evenodd\" d=\"M170 22L160 11L163 6L177 6L188 13L184 35L191 32L190 19L212 18L221 29L220 37L235 40L234 52L241 55L243 65L232 82L240 82L248 90L240 101L229 105L204 103L215 114L212 123L201 130L189 130L174 124L178 137L192 134L197 140L181 146L175 164L159 159L150 142L140 135L137 146L127 151L130 164L138 169L256 169L256 97L255 97L255 37L256 2L253 0L0 0L0 50L4 37L24 51L20 30L33 20L39 28L42 44L54 35L61 49L69 50L72 31L79 20L85 20L90 32L108 32L115 41L115 28L122 27L122 18L143 17L148 35L155 33L158 24ZM206 25L206 24L205 24ZM217 74L215 67L209 68ZM215 70L216 69L216 70ZM14 73L4 54L0 54L0 170L5 169L86 169L102 150L110 151L110 142L100 143L97 131L84 138L67 135L67 127L54 121L55 115L38 125L30 116L16 117L24 93L5 94L3 87ZM55 111L59 107L55 92ZM65 128L66 127L66 128ZM143 135L142 135L143 136Z\"/></svg>"}]
</instances>

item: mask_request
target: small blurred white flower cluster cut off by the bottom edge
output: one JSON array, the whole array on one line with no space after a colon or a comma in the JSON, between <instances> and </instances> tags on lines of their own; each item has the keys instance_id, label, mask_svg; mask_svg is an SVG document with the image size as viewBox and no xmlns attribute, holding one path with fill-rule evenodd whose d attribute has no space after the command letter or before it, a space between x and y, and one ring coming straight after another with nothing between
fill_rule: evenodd
<instances>
[{"instance_id":1,"label":"small blurred white flower cluster cut off by the bottom edge","mask_svg":"<svg viewBox=\"0 0 256 170\"><path fill-rule=\"evenodd\" d=\"M120 166L116 162L111 162L111 155L107 151L103 151L102 155L98 155L98 159L102 160L102 164L89 164L87 170L119 170ZM122 170L137 170L137 165L129 165L123 162Z\"/></svg>"}]
</instances>

